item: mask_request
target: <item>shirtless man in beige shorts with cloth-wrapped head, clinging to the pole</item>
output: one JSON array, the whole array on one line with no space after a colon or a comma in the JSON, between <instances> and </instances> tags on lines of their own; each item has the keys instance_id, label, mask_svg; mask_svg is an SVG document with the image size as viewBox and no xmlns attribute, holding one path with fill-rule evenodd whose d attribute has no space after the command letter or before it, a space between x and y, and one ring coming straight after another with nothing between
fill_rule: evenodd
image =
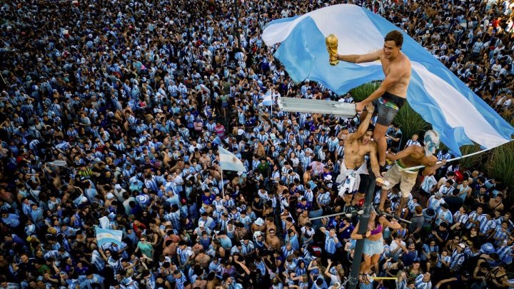
<instances>
[{"instance_id":1,"label":"shirtless man in beige shorts with cloth-wrapped head, clinging to the pole","mask_svg":"<svg viewBox=\"0 0 514 289\"><path fill-rule=\"evenodd\" d=\"M438 133L431 130L427 131L425 133L424 143L425 146L409 146L394 155L386 155L389 160L396 161L396 163L385 173L384 179L389 183L387 186L382 187L381 203L378 206L379 211L383 211L384 209L385 199L387 198L390 188L393 188L398 183L400 183L400 191L402 194L398 208L403 208L407 205L410 191L418 177L418 170L406 171L404 170L405 168L425 166L421 174L423 176L430 176L446 163L446 161L443 161L443 163L438 164L438 159L433 155L435 148L438 148L440 143Z\"/></svg>"}]
</instances>

